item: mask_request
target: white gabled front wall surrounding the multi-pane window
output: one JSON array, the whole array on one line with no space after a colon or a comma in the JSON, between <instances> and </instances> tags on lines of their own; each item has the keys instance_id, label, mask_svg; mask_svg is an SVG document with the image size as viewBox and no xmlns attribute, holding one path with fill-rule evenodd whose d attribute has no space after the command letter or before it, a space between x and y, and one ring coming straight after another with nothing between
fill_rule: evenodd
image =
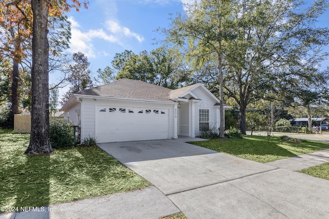
<instances>
[{"instance_id":1,"label":"white gabled front wall surrounding the multi-pane window","mask_svg":"<svg viewBox=\"0 0 329 219\"><path fill-rule=\"evenodd\" d=\"M196 102L194 109L195 109L195 129L194 133L195 136L199 135L199 109L209 109L209 127L219 127L219 111L217 112L217 108L214 105L217 103L213 99L212 96L209 95L202 87L197 87L196 89L192 90L192 93L195 94L199 99L202 99L202 102Z\"/></svg>"}]
</instances>

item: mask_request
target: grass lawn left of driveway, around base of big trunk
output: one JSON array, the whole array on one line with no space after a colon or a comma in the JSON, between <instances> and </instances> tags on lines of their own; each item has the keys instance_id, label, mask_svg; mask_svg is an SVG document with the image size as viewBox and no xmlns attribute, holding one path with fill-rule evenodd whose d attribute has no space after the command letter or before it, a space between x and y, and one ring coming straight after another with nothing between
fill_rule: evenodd
<instances>
[{"instance_id":1,"label":"grass lawn left of driveway, around base of big trunk","mask_svg":"<svg viewBox=\"0 0 329 219\"><path fill-rule=\"evenodd\" d=\"M150 186L98 147L24 155L28 143L28 134L0 129L0 206L45 206Z\"/></svg>"}]
</instances>

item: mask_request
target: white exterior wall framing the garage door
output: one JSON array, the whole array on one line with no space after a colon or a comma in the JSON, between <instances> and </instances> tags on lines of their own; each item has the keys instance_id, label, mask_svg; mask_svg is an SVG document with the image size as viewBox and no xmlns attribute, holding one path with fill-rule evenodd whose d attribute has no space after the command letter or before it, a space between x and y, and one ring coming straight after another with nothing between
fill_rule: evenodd
<instances>
[{"instance_id":1,"label":"white exterior wall framing the garage door","mask_svg":"<svg viewBox=\"0 0 329 219\"><path fill-rule=\"evenodd\" d=\"M152 108L168 108L169 109L169 138L176 138L174 128L174 110L175 103L152 103L152 102L140 102L140 101L123 101L123 100L109 100L109 99L95 99L94 98L82 98L82 129L81 129L81 139L86 137L96 137L95 136L95 115L96 115L96 105L109 105L109 106L132 106L132 107L152 107ZM70 115L71 116L71 115Z\"/></svg>"}]
</instances>

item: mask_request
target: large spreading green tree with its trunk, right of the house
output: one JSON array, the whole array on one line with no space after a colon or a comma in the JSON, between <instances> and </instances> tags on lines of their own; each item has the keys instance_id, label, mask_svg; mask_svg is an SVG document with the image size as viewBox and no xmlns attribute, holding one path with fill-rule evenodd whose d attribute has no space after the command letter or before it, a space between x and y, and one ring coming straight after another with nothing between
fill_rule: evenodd
<instances>
[{"instance_id":1,"label":"large spreading green tree with its trunk, right of the house","mask_svg":"<svg viewBox=\"0 0 329 219\"><path fill-rule=\"evenodd\" d=\"M250 103L273 98L291 78L306 77L296 69L310 56L327 56L321 48L329 43L329 30L316 27L327 7L324 0L310 7L294 0L196 1L162 32L167 44L184 49L190 65L207 67L200 77L206 84L220 90L223 72L223 92L239 106L245 134ZM295 88L301 80L296 82Z\"/></svg>"}]
</instances>

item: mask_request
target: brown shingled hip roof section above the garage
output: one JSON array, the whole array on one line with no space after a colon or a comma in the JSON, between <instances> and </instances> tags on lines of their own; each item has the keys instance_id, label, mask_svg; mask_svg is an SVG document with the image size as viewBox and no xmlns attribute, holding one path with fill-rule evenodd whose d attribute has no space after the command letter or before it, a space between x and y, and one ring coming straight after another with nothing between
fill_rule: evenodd
<instances>
[{"instance_id":1,"label":"brown shingled hip roof section above the garage","mask_svg":"<svg viewBox=\"0 0 329 219\"><path fill-rule=\"evenodd\" d=\"M115 82L79 91L75 94L173 102L169 97L171 91L172 89L147 82L122 78Z\"/></svg>"}]
</instances>

